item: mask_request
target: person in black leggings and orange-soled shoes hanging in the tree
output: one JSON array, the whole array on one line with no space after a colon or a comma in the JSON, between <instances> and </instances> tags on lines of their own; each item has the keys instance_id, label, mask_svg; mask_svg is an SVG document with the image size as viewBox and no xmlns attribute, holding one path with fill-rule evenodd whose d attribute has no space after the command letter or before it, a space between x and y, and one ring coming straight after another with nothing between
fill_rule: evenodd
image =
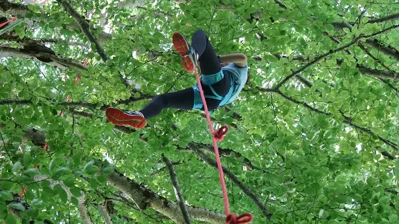
<instances>
[{"instance_id":1,"label":"person in black leggings and orange-soled shoes hanging in the tree","mask_svg":"<svg viewBox=\"0 0 399 224\"><path fill-rule=\"evenodd\" d=\"M191 45L179 32L173 34L172 42L186 71L192 73L199 66L209 111L215 111L219 106L236 100L248 77L247 57L244 54L217 55L202 30L194 33ZM109 107L105 115L113 124L141 129L145 127L147 119L157 116L166 108L204 111L198 84L182 91L157 95L140 111Z\"/></svg>"}]
</instances>

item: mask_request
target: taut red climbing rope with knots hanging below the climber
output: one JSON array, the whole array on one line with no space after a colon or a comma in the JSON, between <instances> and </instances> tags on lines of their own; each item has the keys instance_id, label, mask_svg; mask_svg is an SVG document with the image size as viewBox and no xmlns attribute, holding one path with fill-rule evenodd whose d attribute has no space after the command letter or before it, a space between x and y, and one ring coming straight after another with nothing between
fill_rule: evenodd
<instances>
[{"instance_id":1,"label":"taut red climbing rope with knots hanging below the climber","mask_svg":"<svg viewBox=\"0 0 399 224\"><path fill-rule=\"evenodd\" d=\"M199 69L199 71L201 71L201 69ZM204 91L202 91L201 81L199 80L199 75L197 73L197 68L194 69L194 73L195 73L195 77L197 78L197 83L198 83L198 87L199 87L199 93L201 93L202 103L204 104L206 121L208 122L209 129L211 130L211 133L212 133L213 149L215 150L216 163L218 164L218 170L219 170L220 184L222 185L223 200L224 200L224 212L226 213L226 216L227 216L226 223L227 224L251 223L251 221L254 219L252 214L245 213L240 216L237 216L236 214L230 213L229 198L227 197L227 189L226 189L226 184L224 183L222 162L220 162L219 149L218 149L218 142L221 142L223 140L224 136L229 131L229 127L227 125L224 125L224 126L220 127L220 129L218 129L218 131L215 131L213 129L211 118L209 116L208 105L206 105Z\"/></svg>"}]
</instances>

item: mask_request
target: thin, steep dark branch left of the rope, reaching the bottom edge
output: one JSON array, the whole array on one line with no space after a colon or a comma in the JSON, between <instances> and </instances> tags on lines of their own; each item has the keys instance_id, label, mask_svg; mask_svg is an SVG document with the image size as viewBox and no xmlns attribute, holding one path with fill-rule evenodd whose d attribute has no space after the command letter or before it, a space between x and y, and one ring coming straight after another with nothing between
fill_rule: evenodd
<instances>
[{"instance_id":1,"label":"thin, steep dark branch left of the rope, reaching the bottom edge","mask_svg":"<svg viewBox=\"0 0 399 224\"><path fill-rule=\"evenodd\" d=\"M186 204L184 203L183 194L181 194L181 189L179 187L179 182L177 181L177 176L175 169L173 169L172 162L162 153L162 160L165 162L166 167L168 167L170 180L172 180L173 190L175 191L177 203L179 203L181 214L183 214L184 223L190 224L190 217L188 216Z\"/></svg>"}]
</instances>

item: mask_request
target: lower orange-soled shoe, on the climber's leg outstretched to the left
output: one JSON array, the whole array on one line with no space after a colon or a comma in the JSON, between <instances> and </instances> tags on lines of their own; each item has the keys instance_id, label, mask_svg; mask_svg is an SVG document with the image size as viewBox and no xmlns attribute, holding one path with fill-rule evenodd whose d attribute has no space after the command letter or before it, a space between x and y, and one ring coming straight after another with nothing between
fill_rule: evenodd
<instances>
[{"instance_id":1,"label":"lower orange-soled shoe, on the climber's leg outstretched to the left","mask_svg":"<svg viewBox=\"0 0 399 224\"><path fill-rule=\"evenodd\" d=\"M145 118L139 111L122 111L120 109L109 107L105 110L107 120L115 125L131 126L136 129L145 127Z\"/></svg>"}]
</instances>

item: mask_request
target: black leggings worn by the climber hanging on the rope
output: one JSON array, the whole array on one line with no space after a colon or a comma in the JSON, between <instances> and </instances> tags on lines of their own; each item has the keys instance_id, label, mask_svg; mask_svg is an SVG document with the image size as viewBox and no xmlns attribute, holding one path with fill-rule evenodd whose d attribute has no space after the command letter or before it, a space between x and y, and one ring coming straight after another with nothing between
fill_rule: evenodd
<instances>
[{"instance_id":1,"label":"black leggings worn by the climber hanging on the rope","mask_svg":"<svg viewBox=\"0 0 399 224\"><path fill-rule=\"evenodd\" d=\"M199 68L201 68L202 75L213 75L220 72L222 67L216 55L215 50L211 42L209 42L208 37L202 30L197 30L191 39L191 46L198 53ZM204 85L202 82L202 89L204 90L204 95L213 95L211 88ZM222 97L227 95L230 88L230 78L224 75L223 79L212 85L216 93ZM206 98L206 105L208 105L209 111L214 111L218 108L222 100L214 100ZM184 109L191 110L194 105L194 90L193 88L186 88L182 91L177 91L174 93L165 93L157 95L152 99L152 101L141 110L145 119L153 118L154 116L161 113L163 109L173 108L173 109ZM202 111L204 106L202 106Z\"/></svg>"}]
</instances>

